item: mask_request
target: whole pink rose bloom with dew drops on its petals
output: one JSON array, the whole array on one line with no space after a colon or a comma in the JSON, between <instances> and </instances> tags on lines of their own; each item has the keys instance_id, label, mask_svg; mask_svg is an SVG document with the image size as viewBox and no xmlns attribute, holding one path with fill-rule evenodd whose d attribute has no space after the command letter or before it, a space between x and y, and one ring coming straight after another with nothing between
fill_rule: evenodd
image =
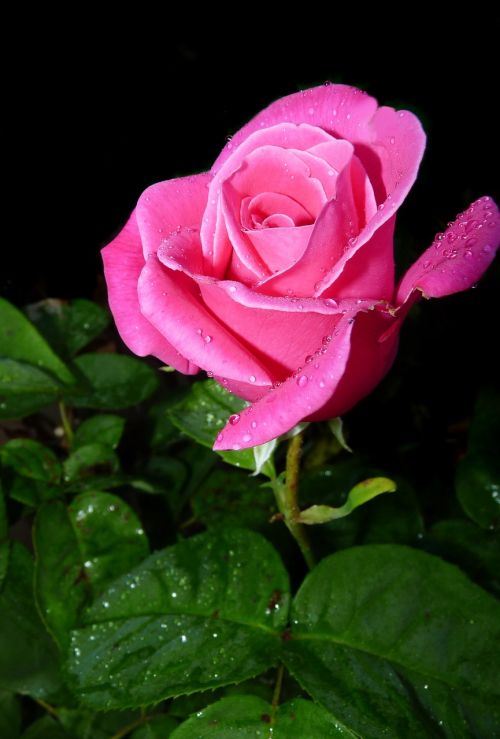
<instances>
[{"instance_id":1,"label":"whole pink rose bloom with dew drops on its petals","mask_svg":"<svg viewBox=\"0 0 500 739\"><path fill-rule=\"evenodd\" d=\"M411 305L486 270L500 217L481 198L395 287L396 211L424 147L412 113L360 90L290 95L238 131L210 172L149 187L103 249L127 346L252 401L216 449L349 410L390 368Z\"/></svg>"}]
</instances>

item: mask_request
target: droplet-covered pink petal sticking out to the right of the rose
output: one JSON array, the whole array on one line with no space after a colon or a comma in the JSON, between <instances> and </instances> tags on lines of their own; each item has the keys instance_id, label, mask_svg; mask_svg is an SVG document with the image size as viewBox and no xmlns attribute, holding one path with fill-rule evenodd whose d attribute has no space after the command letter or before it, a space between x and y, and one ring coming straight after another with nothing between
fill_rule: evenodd
<instances>
[{"instance_id":1,"label":"droplet-covered pink petal sticking out to the right of the rose","mask_svg":"<svg viewBox=\"0 0 500 739\"><path fill-rule=\"evenodd\" d=\"M476 200L404 275L396 305L405 304L415 290L426 298L467 290L482 277L500 243L500 213L489 197Z\"/></svg>"}]
</instances>

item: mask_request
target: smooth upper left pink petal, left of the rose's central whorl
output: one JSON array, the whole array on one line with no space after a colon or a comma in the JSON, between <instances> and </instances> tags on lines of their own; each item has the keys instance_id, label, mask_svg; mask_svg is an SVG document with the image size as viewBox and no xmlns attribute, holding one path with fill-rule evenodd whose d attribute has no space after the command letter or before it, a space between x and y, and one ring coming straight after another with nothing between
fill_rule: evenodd
<instances>
[{"instance_id":1,"label":"smooth upper left pink petal, left of the rose's central whorl","mask_svg":"<svg viewBox=\"0 0 500 739\"><path fill-rule=\"evenodd\" d=\"M183 226L201 225L208 198L209 172L165 180L148 187L137 203L144 256L156 253L163 238Z\"/></svg>"}]
</instances>

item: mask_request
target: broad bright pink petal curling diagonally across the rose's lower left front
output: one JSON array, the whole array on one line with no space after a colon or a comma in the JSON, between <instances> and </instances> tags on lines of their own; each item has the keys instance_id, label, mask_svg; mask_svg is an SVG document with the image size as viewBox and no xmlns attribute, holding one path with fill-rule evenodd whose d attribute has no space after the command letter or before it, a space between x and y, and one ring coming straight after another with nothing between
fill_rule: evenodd
<instances>
[{"instance_id":1,"label":"broad bright pink petal curling diagonally across the rose's lower left front","mask_svg":"<svg viewBox=\"0 0 500 739\"><path fill-rule=\"evenodd\" d=\"M171 258L179 269L175 256ZM198 286L187 275L164 267L152 255L141 272L138 293L143 315L199 367L235 380L251 375L256 385L271 383L259 361L200 302Z\"/></svg>"}]
</instances>

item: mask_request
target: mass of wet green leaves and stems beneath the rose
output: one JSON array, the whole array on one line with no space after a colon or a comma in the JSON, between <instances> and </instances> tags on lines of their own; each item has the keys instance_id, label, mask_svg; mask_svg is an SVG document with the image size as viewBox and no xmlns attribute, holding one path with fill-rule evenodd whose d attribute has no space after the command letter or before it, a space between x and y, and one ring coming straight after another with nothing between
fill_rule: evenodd
<instances>
[{"instance_id":1,"label":"mass of wet green leaves and stems beneath the rose","mask_svg":"<svg viewBox=\"0 0 500 739\"><path fill-rule=\"evenodd\" d=\"M0 325L2 737L500 734L492 387L432 465L425 409L391 436L404 371L379 433L305 430L307 573L287 440L211 451L242 401L116 353L87 300L0 300Z\"/></svg>"}]
</instances>

